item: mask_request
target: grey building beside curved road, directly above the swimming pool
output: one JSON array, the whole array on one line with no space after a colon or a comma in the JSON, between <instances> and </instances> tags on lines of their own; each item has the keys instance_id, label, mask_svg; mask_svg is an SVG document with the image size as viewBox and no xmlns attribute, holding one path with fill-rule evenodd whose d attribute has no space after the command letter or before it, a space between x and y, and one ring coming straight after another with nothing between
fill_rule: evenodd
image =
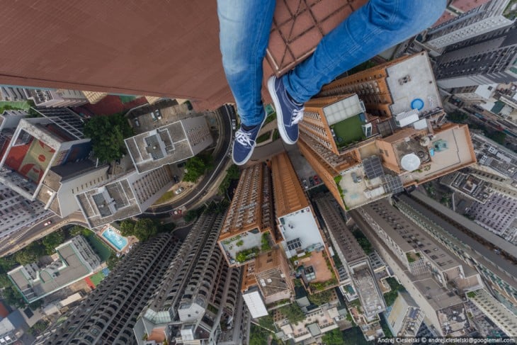
<instances>
[{"instance_id":1,"label":"grey building beside curved road, directly above the swimming pool","mask_svg":"<svg viewBox=\"0 0 517 345\"><path fill-rule=\"evenodd\" d=\"M132 170L101 186L91 185L74 193L76 202L90 227L140 215L174 184L169 166L144 174Z\"/></svg>"}]
</instances>

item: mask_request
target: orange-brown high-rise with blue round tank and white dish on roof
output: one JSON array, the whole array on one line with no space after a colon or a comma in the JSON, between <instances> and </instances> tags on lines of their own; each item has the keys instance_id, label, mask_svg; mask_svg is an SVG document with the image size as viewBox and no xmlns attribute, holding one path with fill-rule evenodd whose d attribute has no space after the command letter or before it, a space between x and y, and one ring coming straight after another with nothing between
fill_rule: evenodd
<instances>
[{"instance_id":1,"label":"orange-brown high-rise with blue round tank and white dish on roof","mask_svg":"<svg viewBox=\"0 0 517 345\"><path fill-rule=\"evenodd\" d=\"M305 106L298 147L344 209L476 162L467 126L444 123L425 52L338 79Z\"/></svg>"}]
</instances>

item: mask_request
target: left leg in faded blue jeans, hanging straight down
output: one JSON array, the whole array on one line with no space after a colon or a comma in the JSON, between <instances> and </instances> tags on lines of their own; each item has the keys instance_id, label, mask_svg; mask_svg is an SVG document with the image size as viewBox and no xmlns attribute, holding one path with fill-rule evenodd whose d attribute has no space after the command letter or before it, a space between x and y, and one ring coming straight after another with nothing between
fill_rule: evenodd
<instances>
[{"instance_id":1,"label":"left leg in faded blue jeans, hanging straight down","mask_svg":"<svg viewBox=\"0 0 517 345\"><path fill-rule=\"evenodd\" d=\"M246 126L259 125L265 115L262 62L274 11L275 0L217 0L222 65Z\"/></svg>"}]
</instances>

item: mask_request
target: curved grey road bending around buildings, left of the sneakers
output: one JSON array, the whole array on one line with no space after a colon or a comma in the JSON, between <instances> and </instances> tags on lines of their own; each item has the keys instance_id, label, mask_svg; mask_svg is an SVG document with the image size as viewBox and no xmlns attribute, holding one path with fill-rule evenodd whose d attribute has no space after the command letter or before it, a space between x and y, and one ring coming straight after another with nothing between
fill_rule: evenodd
<instances>
[{"instance_id":1,"label":"curved grey road bending around buildings, left of the sneakers","mask_svg":"<svg viewBox=\"0 0 517 345\"><path fill-rule=\"evenodd\" d=\"M220 120L220 136L222 136L222 142L217 144L214 153L214 164L215 169L203 177L203 179L193 188L191 188L188 194L185 194L183 198L176 200L174 203L169 205L158 206L156 208L149 208L143 215L152 215L160 217L160 215L169 216L171 210L176 208L186 208L187 210L191 206L199 203L200 199L207 194L207 190L210 188L210 183L217 179L222 172L225 171L227 163L231 159L228 157L230 144L232 143L232 118L228 111L222 111Z\"/></svg>"}]
</instances>

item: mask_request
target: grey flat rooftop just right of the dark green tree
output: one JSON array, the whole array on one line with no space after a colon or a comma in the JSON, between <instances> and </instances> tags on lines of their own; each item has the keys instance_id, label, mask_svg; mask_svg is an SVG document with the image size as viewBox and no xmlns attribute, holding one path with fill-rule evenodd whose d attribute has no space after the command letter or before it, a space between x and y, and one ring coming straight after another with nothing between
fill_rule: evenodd
<instances>
[{"instance_id":1,"label":"grey flat rooftop just right of the dark green tree","mask_svg":"<svg viewBox=\"0 0 517 345\"><path fill-rule=\"evenodd\" d=\"M124 142L139 173L193 156L181 121L129 137Z\"/></svg>"}]
</instances>

